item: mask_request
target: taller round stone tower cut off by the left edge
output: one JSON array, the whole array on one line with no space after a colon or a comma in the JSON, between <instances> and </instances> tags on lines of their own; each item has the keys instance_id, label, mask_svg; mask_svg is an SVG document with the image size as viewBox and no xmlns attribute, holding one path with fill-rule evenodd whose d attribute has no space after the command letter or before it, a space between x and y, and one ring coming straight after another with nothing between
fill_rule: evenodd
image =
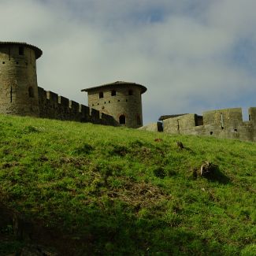
<instances>
[{"instance_id":1,"label":"taller round stone tower cut off by the left edge","mask_svg":"<svg viewBox=\"0 0 256 256\"><path fill-rule=\"evenodd\" d=\"M0 42L0 113L39 116L35 61L42 54L27 43Z\"/></svg>"}]
</instances>

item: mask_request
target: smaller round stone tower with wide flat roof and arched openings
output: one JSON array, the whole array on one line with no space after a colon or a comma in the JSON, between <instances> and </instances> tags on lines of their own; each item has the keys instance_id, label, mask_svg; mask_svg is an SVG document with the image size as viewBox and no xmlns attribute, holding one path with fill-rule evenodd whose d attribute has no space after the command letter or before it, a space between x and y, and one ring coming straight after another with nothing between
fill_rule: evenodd
<instances>
[{"instance_id":1,"label":"smaller round stone tower with wide flat roof and arched openings","mask_svg":"<svg viewBox=\"0 0 256 256\"><path fill-rule=\"evenodd\" d=\"M143 85L117 81L82 91L87 91L91 108L113 116L129 128L143 126L141 95L147 91Z\"/></svg>"}]
</instances>

